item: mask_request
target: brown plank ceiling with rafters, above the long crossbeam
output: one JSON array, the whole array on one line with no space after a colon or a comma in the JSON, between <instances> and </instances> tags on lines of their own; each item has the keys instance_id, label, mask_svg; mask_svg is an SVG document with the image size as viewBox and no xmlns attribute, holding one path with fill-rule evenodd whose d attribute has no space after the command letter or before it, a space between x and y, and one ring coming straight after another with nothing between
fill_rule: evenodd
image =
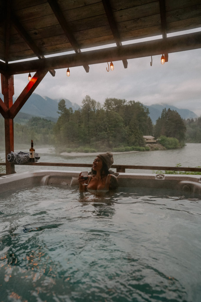
<instances>
[{"instance_id":1,"label":"brown plank ceiling with rafters, above the long crossbeam","mask_svg":"<svg viewBox=\"0 0 201 302\"><path fill-rule=\"evenodd\" d=\"M115 43L116 39L120 45L117 48L121 48L123 41L129 43L130 40L159 34L165 39L166 31L167 34L176 33L201 26L200 0L0 0L0 59L3 61L9 2L11 12L45 57L71 51L72 45L75 52L79 52L79 49ZM35 56L27 43L18 39L12 17L9 44L9 62ZM181 47L180 51L183 51Z\"/></svg>"}]
</instances>

